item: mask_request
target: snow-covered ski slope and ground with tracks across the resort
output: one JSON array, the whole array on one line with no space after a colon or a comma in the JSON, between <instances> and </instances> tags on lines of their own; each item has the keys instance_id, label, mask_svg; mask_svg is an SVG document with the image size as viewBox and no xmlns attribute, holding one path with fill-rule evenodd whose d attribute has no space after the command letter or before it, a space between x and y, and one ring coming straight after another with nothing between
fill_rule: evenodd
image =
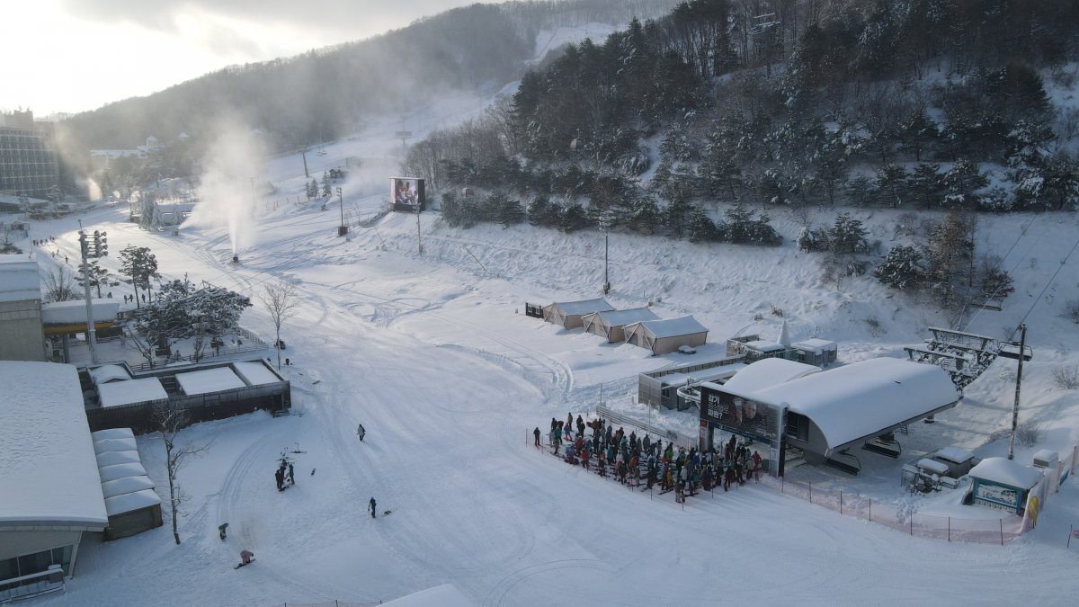
<instances>
[{"instance_id":1,"label":"snow-covered ski slope and ground with tracks across the resort","mask_svg":"<svg viewBox=\"0 0 1079 607\"><path fill-rule=\"evenodd\" d=\"M435 127L440 116L472 107L462 99L414 123ZM384 156L396 129L399 122L372 125L326 146L326 154L309 152L309 168L320 178L350 156ZM392 172L377 162L353 172L342 185L345 214L377 216ZM1071 604L1079 593L1079 547L1064 548L1068 526L1079 526L1075 482L1049 500L1035 530L1000 547L912 538L763 486L691 498L683 508L673 494L631 491L566 466L530 446L534 427L595 409L601 385L607 406L647 418L634 403L637 374L689 360L651 358L524 315L525 301L599 295L600 234L459 230L428 212L420 216L420 255L415 216L390 214L337 237L337 197L325 212L320 200L297 202L310 180L298 154L272 160L259 175L278 193L260 200L254 218L245 212L233 224L244 239L215 222L216 213L175 237L126 222L125 207L81 216L88 229L108 230L113 251L149 246L166 279L187 274L250 296L268 281L295 284L300 313L282 332L293 363L283 367L293 415L252 414L186 431L185 441L213 444L179 475L190 496L183 542L173 542L167 524L108 544L88 541L67 592L41 604L363 604L441 584L477 605ZM240 191L248 189L241 180ZM838 289L824 284L819 259L791 242L802 220L771 214L788 239L778 249L612 235L609 300L618 308L652 302L660 318L693 314L711 331L698 356L737 334L775 339L784 320L794 340L837 341L844 362L905 356L904 345L946 324L924 302L869 279ZM885 248L891 244L894 213L855 214ZM811 215L831 224L835 212ZM1079 332L1063 315L1065 302L1079 299L1079 258L1060 265L1077 228L1069 214L983 216L979 224L980 251L1005 256L1016 293L1002 312L979 313L967 331L1003 338L1026 315L1035 353L1024 367L1022 419L1040 423L1041 442L1019 450L1021 462L1079 440L1079 396L1052 379L1054 368L1079 364ZM30 239L56 235L39 255L43 266L65 255L74 260L77 229L73 218L32 225ZM230 264L234 242L238 265ZM103 265L115 271L118 260ZM258 302L243 324L273 341ZM866 454L858 477L808 467L789 477L976 517L978 509L948 504L954 496L912 499L899 487L899 466L907 454L947 445L982 457L1006 453L1007 439L989 436L1010 424L1014 374L1013 362L996 362L958 407L902 437L899 462ZM692 413L651 419L691 435L697 423ZM364 442L357 423L367 430ZM160 442L140 437L139 450L165 497ZM297 484L278 493L273 472L283 450L300 453L291 455ZM372 496L377 520L367 513ZM382 517L385 510L393 512ZM226 522L222 542L217 526ZM244 548L257 562L233 570Z\"/></svg>"}]
</instances>

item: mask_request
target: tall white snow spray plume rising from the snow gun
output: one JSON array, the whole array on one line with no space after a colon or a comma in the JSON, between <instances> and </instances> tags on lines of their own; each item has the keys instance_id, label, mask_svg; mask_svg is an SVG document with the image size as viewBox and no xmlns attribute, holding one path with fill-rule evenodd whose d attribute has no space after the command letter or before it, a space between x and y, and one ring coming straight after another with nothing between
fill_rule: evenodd
<instances>
[{"instance_id":1,"label":"tall white snow spray plume rising from the snow gun","mask_svg":"<svg viewBox=\"0 0 1079 607\"><path fill-rule=\"evenodd\" d=\"M234 121L221 121L206 151L200 176L199 205L191 222L218 228L228 226L232 254L255 244L257 204L255 192L263 175L265 149L258 134Z\"/></svg>"}]
</instances>

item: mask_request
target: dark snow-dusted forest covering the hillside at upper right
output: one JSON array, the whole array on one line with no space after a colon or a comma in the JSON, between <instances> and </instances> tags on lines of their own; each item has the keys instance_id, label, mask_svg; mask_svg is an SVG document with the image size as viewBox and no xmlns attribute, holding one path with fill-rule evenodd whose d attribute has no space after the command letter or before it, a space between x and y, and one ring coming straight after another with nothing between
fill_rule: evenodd
<instances>
[{"instance_id":1,"label":"dark snow-dusted forest covering the hillside at upper right","mask_svg":"<svg viewBox=\"0 0 1079 607\"><path fill-rule=\"evenodd\" d=\"M897 232L923 244L874 275L945 308L1001 299L976 214L1079 202L1079 104L1049 94L1075 89L1076 24L1062 0L682 2L570 45L406 166L466 227L776 245L769 211L905 208ZM837 214L797 239L836 281L884 254Z\"/></svg>"}]
</instances>

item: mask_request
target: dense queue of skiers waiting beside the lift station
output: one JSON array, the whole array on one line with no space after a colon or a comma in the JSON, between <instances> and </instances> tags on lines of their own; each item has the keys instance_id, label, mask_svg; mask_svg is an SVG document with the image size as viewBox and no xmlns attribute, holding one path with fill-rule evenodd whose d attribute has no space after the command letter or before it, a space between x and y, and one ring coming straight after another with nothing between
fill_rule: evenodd
<instances>
[{"instance_id":1,"label":"dense queue of skiers waiting beside the lift station","mask_svg":"<svg viewBox=\"0 0 1079 607\"><path fill-rule=\"evenodd\" d=\"M532 433L540 447L540 428ZM658 483L660 494L675 491L677 502L697 495L697 490L720 486L729 490L732 485L742 485L761 471L761 454L751 451L735 435L720 450L686 450L670 441L665 444L663 439L653 441L647 434L638 436L636 431L627 435L625 429L615 430L603 419L586 422L578 415L574 421L571 413L564 423L551 418L548 439L551 454L561 455L568 463L589 470L595 461L600 476L613 472L624 485L644 483L642 490Z\"/></svg>"}]
</instances>

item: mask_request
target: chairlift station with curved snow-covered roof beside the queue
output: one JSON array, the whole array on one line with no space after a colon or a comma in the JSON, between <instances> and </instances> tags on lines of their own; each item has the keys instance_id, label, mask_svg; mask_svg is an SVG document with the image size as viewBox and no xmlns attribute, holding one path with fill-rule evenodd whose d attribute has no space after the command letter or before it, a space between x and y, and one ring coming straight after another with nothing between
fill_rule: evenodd
<instances>
[{"instance_id":1,"label":"chairlift station with curved snow-covered roof beside the queue","mask_svg":"<svg viewBox=\"0 0 1079 607\"><path fill-rule=\"evenodd\" d=\"M807 463L857 473L857 462L842 459L848 448L873 443L962 397L944 369L901 359L861 361L763 388L747 381L743 387L752 389L743 389L733 381L701 386L701 427L709 429L701 448L712 446L715 429L768 443L773 474L782 473L787 448L800 449Z\"/></svg>"}]
</instances>

